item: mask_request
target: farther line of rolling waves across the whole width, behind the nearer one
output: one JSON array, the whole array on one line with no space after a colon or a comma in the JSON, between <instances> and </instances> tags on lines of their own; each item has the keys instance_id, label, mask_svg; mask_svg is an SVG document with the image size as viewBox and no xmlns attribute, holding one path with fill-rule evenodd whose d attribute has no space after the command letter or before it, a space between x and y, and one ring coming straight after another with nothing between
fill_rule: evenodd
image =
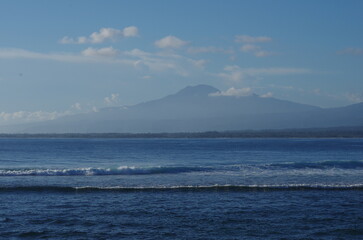
<instances>
[{"instance_id":1,"label":"farther line of rolling waves across the whole width, behind the nearer one","mask_svg":"<svg viewBox=\"0 0 363 240\"><path fill-rule=\"evenodd\" d=\"M158 166L158 167L133 167L121 166L118 168L67 168L67 169L43 169L43 168L14 168L0 169L0 177L9 176L106 176L106 175L151 175L151 174L178 174L190 172L217 172L242 170L254 172L256 170L363 170L363 161L322 161L322 162L292 162L273 164L241 164L222 166Z\"/></svg>"}]
</instances>

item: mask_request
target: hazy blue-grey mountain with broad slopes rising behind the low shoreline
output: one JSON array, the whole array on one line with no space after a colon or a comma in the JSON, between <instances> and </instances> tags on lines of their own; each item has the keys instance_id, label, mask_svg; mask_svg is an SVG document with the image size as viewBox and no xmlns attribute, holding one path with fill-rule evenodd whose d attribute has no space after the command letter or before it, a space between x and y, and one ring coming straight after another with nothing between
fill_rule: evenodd
<instances>
[{"instance_id":1,"label":"hazy blue-grey mountain with broad slopes rising behind the low shoreline","mask_svg":"<svg viewBox=\"0 0 363 240\"><path fill-rule=\"evenodd\" d=\"M218 96L208 85L189 86L161 99L104 108L52 121L0 129L21 133L202 132L362 126L363 103L322 109L276 98Z\"/></svg>"}]
</instances>

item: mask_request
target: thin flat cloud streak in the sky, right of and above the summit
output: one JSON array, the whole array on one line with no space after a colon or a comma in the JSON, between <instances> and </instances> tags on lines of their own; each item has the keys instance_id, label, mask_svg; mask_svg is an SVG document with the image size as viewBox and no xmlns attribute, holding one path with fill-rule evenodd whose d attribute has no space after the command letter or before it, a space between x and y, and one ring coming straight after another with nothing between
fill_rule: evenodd
<instances>
[{"instance_id":1,"label":"thin flat cloud streak in the sky, right of and above the summit","mask_svg":"<svg viewBox=\"0 0 363 240\"><path fill-rule=\"evenodd\" d=\"M236 65L229 65L224 68L224 72L217 75L223 79L238 82L249 77L307 73L311 73L311 71L305 68L241 68Z\"/></svg>"}]
</instances>

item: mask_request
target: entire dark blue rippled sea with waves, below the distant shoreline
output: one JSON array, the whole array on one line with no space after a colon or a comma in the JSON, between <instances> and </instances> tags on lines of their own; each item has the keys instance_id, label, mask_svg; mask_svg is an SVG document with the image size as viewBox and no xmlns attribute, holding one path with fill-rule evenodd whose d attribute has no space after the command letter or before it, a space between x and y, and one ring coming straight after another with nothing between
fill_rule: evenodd
<instances>
[{"instance_id":1,"label":"entire dark blue rippled sea with waves, below the distant shoreline","mask_svg":"<svg viewBox=\"0 0 363 240\"><path fill-rule=\"evenodd\" d=\"M360 239L363 139L1 139L3 239Z\"/></svg>"}]
</instances>

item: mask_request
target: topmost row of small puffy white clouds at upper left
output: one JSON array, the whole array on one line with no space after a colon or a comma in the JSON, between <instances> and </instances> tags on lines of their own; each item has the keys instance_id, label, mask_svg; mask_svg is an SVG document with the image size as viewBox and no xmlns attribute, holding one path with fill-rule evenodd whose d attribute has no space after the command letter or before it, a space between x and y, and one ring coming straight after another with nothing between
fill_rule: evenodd
<instances>
[{"instance_id":1,"label":"topmost row of small puffy white clouds at upper left","mask_svg":"<svg viewBox=\"0 0 363 240\"><path fill-rule=\"evenodd\" d=\"M129 26L124 29L101 28L98 32L93 32L88 37L71 38L65 36L59 42L62 44L102 43L107 40L116 41L120 38L135 37L137 35L138 29L135 26Z\"/></svg>"}]
</instances>

